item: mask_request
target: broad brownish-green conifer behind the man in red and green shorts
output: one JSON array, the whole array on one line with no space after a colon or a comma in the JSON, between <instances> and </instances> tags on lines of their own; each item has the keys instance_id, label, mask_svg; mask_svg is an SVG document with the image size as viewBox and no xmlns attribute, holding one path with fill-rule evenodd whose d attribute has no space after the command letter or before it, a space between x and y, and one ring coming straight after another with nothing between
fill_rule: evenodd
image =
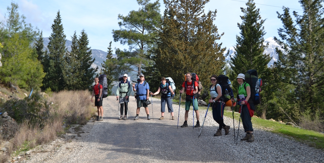
<instances>
[{"instance_id":1,"label":"broad brownish-green conifer behind the man in red and green shorts","mask_svg":"<svg viewBox=\"0 0 324 163\"><path fill-rule=\"evenodd\" d=\"M162 76L179 83L186 72L198 74L204 87L213 74L224 66L225 57L214 20L215 11L204 13L209 0L164 0L166 10L158 34L155 63Z\"/></svg>"}]
</instances>

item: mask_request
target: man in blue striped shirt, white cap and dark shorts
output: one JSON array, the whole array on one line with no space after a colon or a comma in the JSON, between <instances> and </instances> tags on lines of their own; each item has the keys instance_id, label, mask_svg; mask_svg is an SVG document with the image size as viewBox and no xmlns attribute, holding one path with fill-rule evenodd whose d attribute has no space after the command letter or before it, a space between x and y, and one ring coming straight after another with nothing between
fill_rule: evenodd
<instances>
[{"instance_id":1,"label":"man in blue striped shirt, white cap and dark shorts","mask_svg":"<svg viewBox=\"0 0 324 163\"><path fill-rule=\"evenodd\" d=\"M145 79L143 74L141 74L139 77L140 77L140 81L136 83L136 85L132 83L133 91L136 91L136 95L137 95L136 97L137 109L136 109L136 117L134 118L134 120L138 119L138 115L140 114L141 107L145 108L147 120L150 120L151 118L148 112L148 107L145 104L145 101L148 100L149 97L150 87L148 86L148 83L144 81Z\"/></svg>"}]
</instances>

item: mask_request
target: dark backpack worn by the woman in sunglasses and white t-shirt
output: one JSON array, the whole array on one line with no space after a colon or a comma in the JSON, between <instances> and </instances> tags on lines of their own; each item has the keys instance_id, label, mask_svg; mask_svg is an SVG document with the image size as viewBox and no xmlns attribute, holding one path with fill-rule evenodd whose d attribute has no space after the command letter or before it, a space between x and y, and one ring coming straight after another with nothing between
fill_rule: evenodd
<instances>
[{"instance_id":1,"label":"dark backpack worn by the woman in sunglasses and white t-shirt","mask_svg":"<svg viewBox=\"0 0 324 163\"><path fill-rule=\"evenodd\" d=\"M222 99L225 103L230 100L231 98L234 98L233 90L232 90L232 84L229 81L229 78L225 75L219 75L217 76L217 83L222 88ZM229 97L226 97L226 89L228 91Z\"/></svg>"}]
</instances>

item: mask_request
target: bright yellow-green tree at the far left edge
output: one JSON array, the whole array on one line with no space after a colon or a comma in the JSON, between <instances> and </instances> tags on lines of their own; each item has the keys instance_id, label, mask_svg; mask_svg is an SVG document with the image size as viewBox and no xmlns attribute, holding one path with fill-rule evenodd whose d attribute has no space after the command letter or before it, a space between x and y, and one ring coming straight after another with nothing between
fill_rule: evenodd
<instances>
[{"instance_id":1,"label":"bright yellow-green tree at the far left edge","mask_svg":"<svg viewBox=\"0 0 324 163\"><path fill-rule=\"evenodd\" d=\"M45 74L37 55L30 47L38 30L25 23L26 17L19 15L17 4L11 3L7 10L8 17L0 26L0 41L3 43L0 50L3 56L0 80L8 86L13 84L29 90L38 89Z\"/></svg>"}]
</instances>

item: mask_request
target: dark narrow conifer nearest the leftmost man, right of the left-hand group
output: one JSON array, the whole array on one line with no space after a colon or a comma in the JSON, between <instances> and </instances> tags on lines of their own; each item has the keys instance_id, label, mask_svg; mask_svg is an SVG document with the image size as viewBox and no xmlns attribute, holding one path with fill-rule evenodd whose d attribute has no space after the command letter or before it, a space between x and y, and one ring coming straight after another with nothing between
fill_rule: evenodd
<instances>
[{"instance_id":1,"label":"dark narrow conifer nearest the leftmost man, right of the left-hand group","mask_svg":"<svg viewBox=\"0 0 324 163\"><path fill-rule=\"evenodd\" d=\"M83 89L87 89L91 86L93 83L93 76L95 75L96 71L98 70L98 67L92 68L91 65L95 61L95 59L92 59L92 52L91 47L88 47L89 40L88 35L83 29L81 31L81 35L78 39L78 46L79 50L77 53L77 61L80 64L79 67L79 73L80 73L80 86L83 87Z\"/></svg>"}]
</instances>

